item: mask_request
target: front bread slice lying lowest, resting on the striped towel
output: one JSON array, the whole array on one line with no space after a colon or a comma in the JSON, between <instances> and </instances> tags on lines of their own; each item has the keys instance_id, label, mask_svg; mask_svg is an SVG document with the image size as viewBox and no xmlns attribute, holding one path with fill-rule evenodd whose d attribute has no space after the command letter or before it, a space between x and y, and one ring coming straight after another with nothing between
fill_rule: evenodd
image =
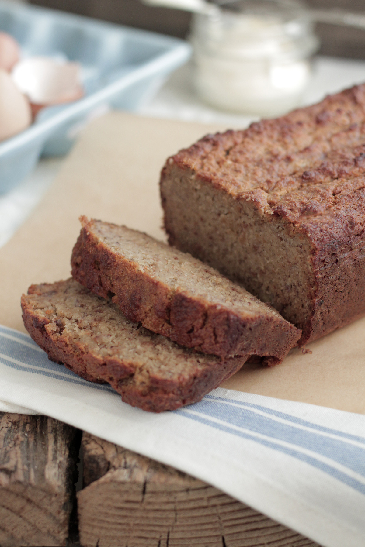
<instances>
[{"instance_id":1,"label":"front bread slice lying lowest, resting on the striped towel","mask_svg":"<svg viewBox=\"0 0 365 547\"><path fill-rule=\"evenodd\" d=\"M32 285L21 306L26 329L51 360L85 380L109 383L123 401L147 411L199 401L247 358L223 361L178 346L72 278Z\"/></svg>"}]
</instances>

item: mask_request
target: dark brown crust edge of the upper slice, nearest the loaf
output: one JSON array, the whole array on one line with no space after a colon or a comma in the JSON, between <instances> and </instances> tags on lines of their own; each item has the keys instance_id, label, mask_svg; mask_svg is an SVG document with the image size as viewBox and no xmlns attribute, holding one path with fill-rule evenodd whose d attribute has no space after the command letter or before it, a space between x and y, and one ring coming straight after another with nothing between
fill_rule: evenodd
<instances>
[{"instance_id":1,"label":"dark brown crust edge of the upper slice, nearest the loaf","mask_svg":"<svg viewBox=\"0 0 365 547\"><path fill-rule=\"evenodd\" d=\"M73 248L72 276L95 294L117 304L130 321L183 346L225 359L254 354L274 365L296 344L300 331L277 315L242 318L142 272L97 237L94 221L82 217ZM106 224L106 223L103 223Z\"/></svg>"}]
</instances>

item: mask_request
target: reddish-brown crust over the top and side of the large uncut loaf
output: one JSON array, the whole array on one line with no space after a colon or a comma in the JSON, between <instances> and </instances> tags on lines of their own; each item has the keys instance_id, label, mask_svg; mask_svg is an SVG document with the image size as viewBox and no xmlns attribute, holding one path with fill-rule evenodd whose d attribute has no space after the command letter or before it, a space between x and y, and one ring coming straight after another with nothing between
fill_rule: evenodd
<instances>
[{"instance_id":1,"label":"reddish-brown crust over the top and side of the large uncut loaf","mask_svg":"<svg viewBox=\"0 0 365 547\"><path fill-rule=\"evenodd\" d=\"M160 188L170 244L224 272L222 262L193 243L204 217L191 229L189 213L183 225L174 219L172 193L182 180L192 188L215 188L231 207L250 203L258 222L275 222L304 238L312 272L306 321L293 321L270 301L303 330L300 345L365 314L365 85L245 131L207 135L166 161ZM192 196L186 195L186 211ZM215 237L226 236L217 225ZM244 272L245 264L240 267ZM237 268L234 277L244 274ZM246 288L263 299L250 284Z\"/></svg>"}]
</instances>

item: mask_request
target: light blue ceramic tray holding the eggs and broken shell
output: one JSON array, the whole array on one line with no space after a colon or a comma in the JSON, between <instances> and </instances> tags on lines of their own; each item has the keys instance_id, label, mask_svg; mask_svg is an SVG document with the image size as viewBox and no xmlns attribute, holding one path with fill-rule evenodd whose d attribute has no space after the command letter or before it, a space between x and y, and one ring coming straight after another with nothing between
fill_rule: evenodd
<instances>
[{"instance_id":1,"label":"light blue ceramic tray holding the eggs and broken shell","mask_svg":"<svg viewBox=\"0 0 365 547\"><path fill-rule=\"evenodd\" d=\"M30 173L40 155L65 154L87 119L110 108L137 109L190 56L177 38L13 2L0 1L0 30L26 56L79 62L86 91L79 101L44 108L31 127L0 143L0 193Z\"/></svg>"}]
</instances>

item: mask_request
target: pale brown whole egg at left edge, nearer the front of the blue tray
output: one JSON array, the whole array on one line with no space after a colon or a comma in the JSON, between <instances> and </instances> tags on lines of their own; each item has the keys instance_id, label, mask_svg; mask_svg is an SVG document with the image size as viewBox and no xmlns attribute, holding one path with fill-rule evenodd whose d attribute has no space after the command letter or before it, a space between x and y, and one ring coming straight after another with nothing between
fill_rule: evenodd
<instances>
[{"instance_id":1,"label":"pale brown whole egg at left edge, nearer the front of the blue tray","mask_svg":"<svg viewBox=\"0 0 365 547\"><path fill-rule=\"evenodd\" d=\"M13 137L32 122L29 102L10 75L0 69L0 141Z\"/></svg>"}]
</instances>

